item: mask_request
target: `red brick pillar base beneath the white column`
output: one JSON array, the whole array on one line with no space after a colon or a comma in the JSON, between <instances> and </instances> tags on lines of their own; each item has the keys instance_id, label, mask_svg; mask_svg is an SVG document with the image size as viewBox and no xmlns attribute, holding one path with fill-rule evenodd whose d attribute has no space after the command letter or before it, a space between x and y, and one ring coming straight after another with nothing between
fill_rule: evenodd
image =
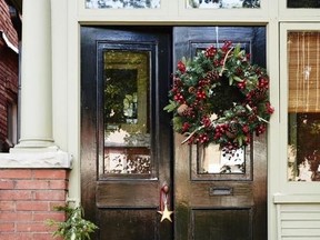
<instances>
[{"instance_id":1,"label":"red brick pillar base beneath the white column","mask_svg":"<svg viewBox=\"0 0 320 240\"><path fill-rule=\"evenodd\" d=\"M46 220L64 220L68 170L0 169L0 239L49 240L54 229Z\"/></svg>"}]
</instances>

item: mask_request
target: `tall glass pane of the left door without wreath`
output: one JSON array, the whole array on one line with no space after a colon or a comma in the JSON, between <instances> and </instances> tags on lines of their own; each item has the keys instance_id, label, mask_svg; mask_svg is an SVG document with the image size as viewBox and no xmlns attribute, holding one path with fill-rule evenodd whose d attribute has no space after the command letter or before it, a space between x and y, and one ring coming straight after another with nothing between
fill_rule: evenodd
<instances>
[{"instance_id":1,"label":"tall glass pane of the left door without wreath","mask_svg":"<svg viewBox=\"0 0 320 240\"><path fill-rule=\"evenodd\" d=\"M103 54L104 173L151 173L148 51Z\"/></svg>"}]
</instances>

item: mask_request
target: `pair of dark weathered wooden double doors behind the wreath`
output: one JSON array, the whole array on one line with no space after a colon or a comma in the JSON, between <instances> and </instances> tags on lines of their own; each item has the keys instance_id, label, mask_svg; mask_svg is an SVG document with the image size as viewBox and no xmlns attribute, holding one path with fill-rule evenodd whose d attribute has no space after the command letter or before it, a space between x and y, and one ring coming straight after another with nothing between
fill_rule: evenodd
<instances>
[{"instance_id":1,"label":"pair of dark weathered wooden double doors behind the wreath","mask_svg":"<svg viewBox=\"0 0 320 240\"><path fill-rule=\"evenodd\" d=\"M81 199L93 239L267 239L264 139L236 156L181 144L163 111L172 66L223 40L264 63L264 28L81 27Z\"/></svg>"}]
</instances>

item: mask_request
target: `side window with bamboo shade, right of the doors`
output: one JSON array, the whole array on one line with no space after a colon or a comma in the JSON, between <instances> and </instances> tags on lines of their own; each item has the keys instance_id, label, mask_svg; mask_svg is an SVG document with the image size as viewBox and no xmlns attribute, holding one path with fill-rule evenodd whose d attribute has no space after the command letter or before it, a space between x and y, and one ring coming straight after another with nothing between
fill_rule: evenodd
<instances>
[{"instance_id":1,"label":"side window with bamboo shade, right of the doors","mask_svg":"<svg viewBox=\"0 0 320 240\"><path fill-rule=\"evenodd\" d=\"M288 32L288 180L320 180L320 33Z\"/></svg>"}]
</instances>

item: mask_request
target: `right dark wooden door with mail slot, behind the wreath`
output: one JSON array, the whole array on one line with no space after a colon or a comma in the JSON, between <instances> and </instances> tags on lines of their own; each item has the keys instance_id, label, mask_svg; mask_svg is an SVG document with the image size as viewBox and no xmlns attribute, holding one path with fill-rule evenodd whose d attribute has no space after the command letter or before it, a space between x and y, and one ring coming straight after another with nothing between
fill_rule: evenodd
<instances>
[{"instance_id":1,"label":"right dark wooden door with mail slot, behind the wreath","mask_svg":"<svg viewBox=\"0 0 320 240\"><path fill-rule=\"evenodd\" d=\"M187 36L187 37L186 37ZM173 29L174 63L224 40L240 43L253 62L264 64L266 34L259 27L204 27ZM259 50L259 51L257 51ZM237 153L242 161L234 171L217 171L214 164L232 162L214 146L204 149L174 143L174 233L177 240L267 239L267 151L264 137ZM203 160L206 156L206 160ZM227 159L227 160L226 160ZM234 160L234 161L236 161ZM209 163L203 163L209 162ZM227 162L227 163L226 163ZM203 170L203 166L207 166ZM228 169L232 164L227 166ZM188 229L188 231L186 231Z\"/></svg>"}]
</instances>

